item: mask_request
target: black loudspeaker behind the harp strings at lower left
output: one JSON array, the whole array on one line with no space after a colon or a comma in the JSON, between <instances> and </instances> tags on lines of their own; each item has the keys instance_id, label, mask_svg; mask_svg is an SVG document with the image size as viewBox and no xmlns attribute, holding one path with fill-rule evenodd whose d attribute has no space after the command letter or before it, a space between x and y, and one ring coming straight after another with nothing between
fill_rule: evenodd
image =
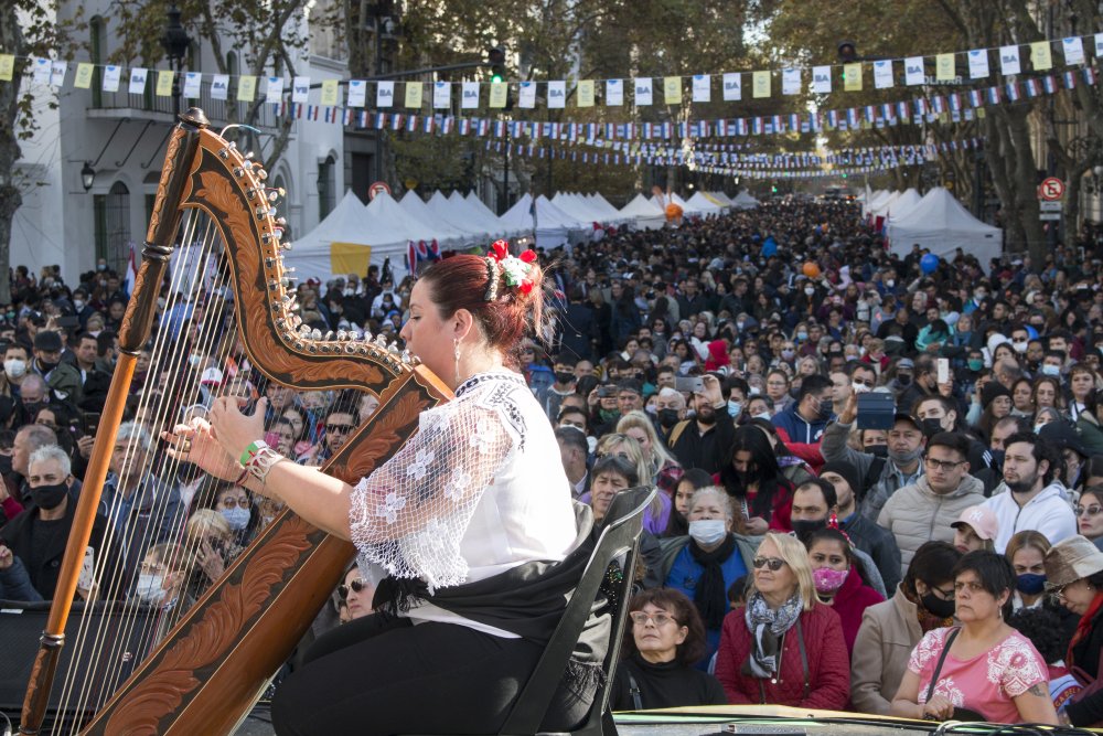
<instances>
[{"instance_id":1,"label":"black loudspeaker behind the harp strings at lower left","mask_svg":"<svg viewBox=\"0 0 1103 736\"><path fill-rule=\"evenodd\" d=\"M158 609L144 604L96 602L73 605L57 676L50 691L50 721L95 713L152 646ZM0 711L18 714L46 628L50 602L0 600ZM98 641L90 638L97 636ZM78 637L86 642L78 648ZM79 651L78 651L79 650ZM75 666L74 666L75 664ZM69 703L58 714L62 695Z\"/></svg>"}]
</instances>

